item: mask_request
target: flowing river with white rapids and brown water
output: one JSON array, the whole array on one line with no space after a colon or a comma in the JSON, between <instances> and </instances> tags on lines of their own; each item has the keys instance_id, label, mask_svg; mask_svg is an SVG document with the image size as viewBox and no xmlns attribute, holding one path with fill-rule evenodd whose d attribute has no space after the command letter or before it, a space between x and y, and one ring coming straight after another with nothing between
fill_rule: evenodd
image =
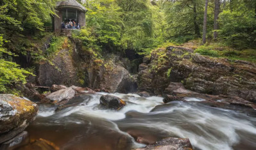
<instances>
[{"instance_id":1,"label":"flowing river with white rapids and brown water","mask_svg":"<svg viewBox=\"0 0 256 150\"><path fill-rule=\"evenodd\" d=\"M187 137L194 149L256 149L255 110L219 109L199 98L164 104L158 96L120 93L112 95L127 105L106 110L99 107L101 94L107 93L79 96L73 100L79 105L59 111L40 105L37 119L26 129L30 140L45 139L60 149L123 150L145 146L130 135L152 141Z\"/></svg>"}]
</instances>

